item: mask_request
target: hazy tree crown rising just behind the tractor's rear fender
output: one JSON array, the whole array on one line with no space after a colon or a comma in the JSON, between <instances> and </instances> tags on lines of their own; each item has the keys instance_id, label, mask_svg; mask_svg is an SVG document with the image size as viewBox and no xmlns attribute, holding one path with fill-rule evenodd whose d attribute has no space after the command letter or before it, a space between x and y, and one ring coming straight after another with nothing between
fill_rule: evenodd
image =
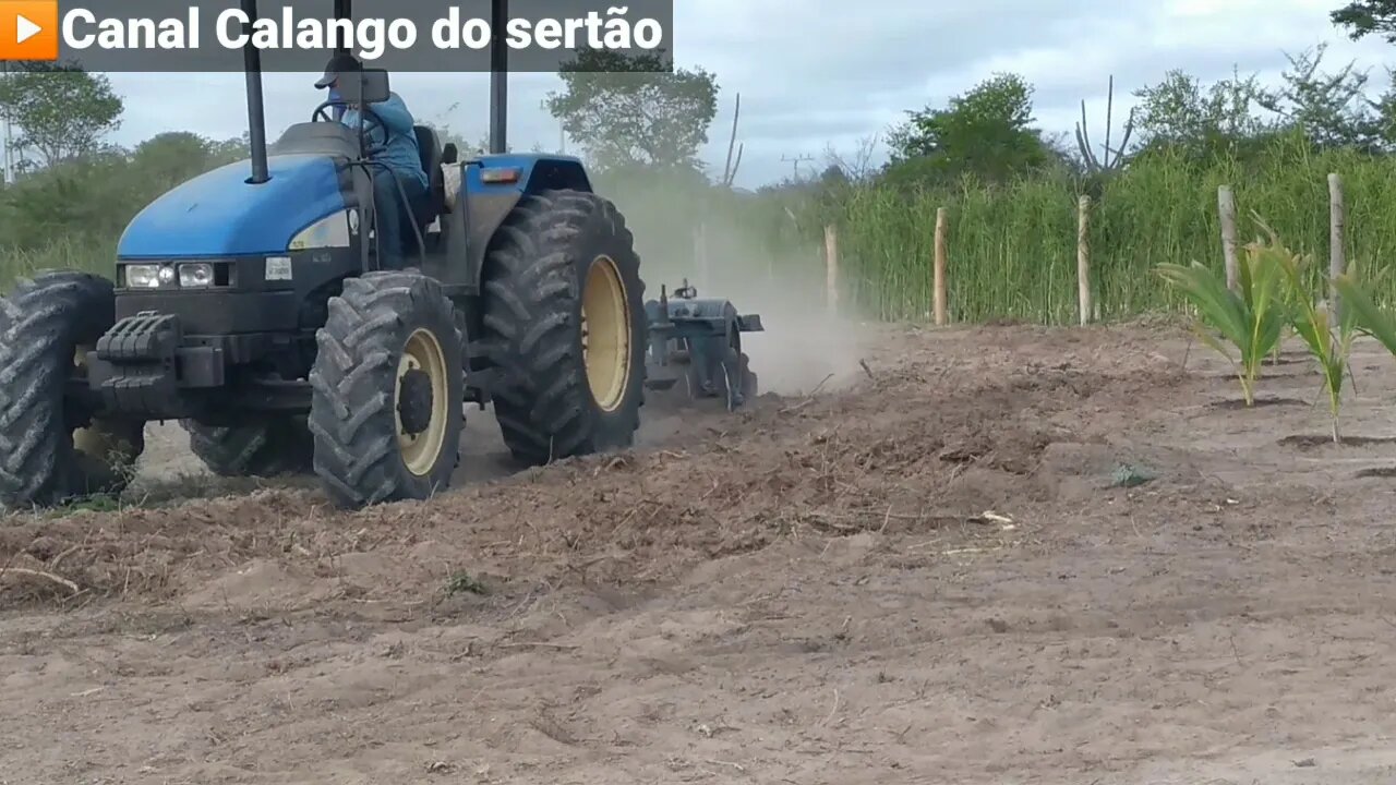
<instances>
[{"instance_id":1,"label":"hazy tree crown rising just behind the tractor's rear fender","mask_svg":"<svg viewBox=\"0 0 1396 785\"><path fill-rule=\"evenodd\" d=\"M589 49L563 66L564 89L543 105L600 169L698 170L718 113L716 78L702 68L663 68L658 53Z\"/></svg>"}]
</instances>

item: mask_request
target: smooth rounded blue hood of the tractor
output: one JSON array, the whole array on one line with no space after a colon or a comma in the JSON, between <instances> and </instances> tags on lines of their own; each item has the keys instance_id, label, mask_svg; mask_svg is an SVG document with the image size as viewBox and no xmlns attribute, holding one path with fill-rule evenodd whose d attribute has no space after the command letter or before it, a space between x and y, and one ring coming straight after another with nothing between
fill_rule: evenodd
<instances>
[{"instance_id":1,"label":"smooth rounded blue hood of the tractor","mask_svg":"<svg viewBox=\"0 0 1396 785\"><path fill-rule=\"evenodd\" d=\"M131 219L119 258L201 258L285 253L297 232L343 211L346 169L325 155L276 155L271 180L247 183L247 161L207 172Z\"/></svg>"}]
</instances>

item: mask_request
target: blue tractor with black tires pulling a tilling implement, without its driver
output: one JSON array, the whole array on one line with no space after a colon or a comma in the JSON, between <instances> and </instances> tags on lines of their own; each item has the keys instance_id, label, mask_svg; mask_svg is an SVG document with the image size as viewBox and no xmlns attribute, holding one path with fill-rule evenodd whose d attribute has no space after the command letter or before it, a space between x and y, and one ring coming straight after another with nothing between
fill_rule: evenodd
<instances>
[{"instance_id":1,"label":"blue tractor with black tires pulling a tilling implement, without its driver","mask_svg":"<svg viewBox=\"0 0 1396 785\"><path fill-rule=\"evenodd\" d=\"M363 126L327 103L268 144L257 49L244 61L248 161L145 207L114 281L46 272L0 299L0 504L120 492L152 420L180 422L219 475L313 472L352 508L445 490L466 402L537 465L631 446L646 388L683 380L729 409L755 394L740 334L759 317L687 286L646 303L631 232L581 161L504 152L503 42L489 155L416 127L431 189L405 270L377 263ZM341 91L371 106L388 75Z\"/></svg>"}]
</instances>

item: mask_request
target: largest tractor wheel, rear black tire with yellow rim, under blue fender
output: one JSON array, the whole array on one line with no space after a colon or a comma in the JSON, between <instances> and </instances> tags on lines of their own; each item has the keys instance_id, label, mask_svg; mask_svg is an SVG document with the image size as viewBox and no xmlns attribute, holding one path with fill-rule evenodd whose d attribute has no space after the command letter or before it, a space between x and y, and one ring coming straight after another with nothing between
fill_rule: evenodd
<instances>
[{"instance_id":1,"label":"largest tractor wheel, rear black tire with yellow rim, under blue fender","mask_svg":"<svg viewBox=\"0 0 1396 785\"><path fill-rule=\"evenodd\" d=\"M529 465L630 447L649 324L625 219L592 193L519 200L484 265L484 345L504 443Z\"/></svg>"}]
</instances>

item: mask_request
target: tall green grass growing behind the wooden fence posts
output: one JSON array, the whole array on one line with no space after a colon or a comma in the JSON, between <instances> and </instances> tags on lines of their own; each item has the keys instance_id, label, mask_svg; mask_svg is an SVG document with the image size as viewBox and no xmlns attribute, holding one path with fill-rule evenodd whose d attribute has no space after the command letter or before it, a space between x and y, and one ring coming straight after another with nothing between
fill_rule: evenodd
<instances>
[{"instance_id":1,"label":"tall green grass growing behind the wooden fence posts","mask_svg":"<svg viewBox=\"0 0 1396 785\"><path fill-rule=\"evenodd\" d=\"M1294 251L1326 257L1328 175L1337 172L1347 203L1349 256L1371 267L1396 261L1396 159L1349 151L1311 154L1305 147L1280 141L1245 166L1150 158L1106 182L1094 194L1089 223L1092 288L1101 316L1182 309L1181 298L1153 272L1160 263L1195 260L1222 270L1222 184L1235 191L1242 243L1259 235L1249 219L1254 211ZM1078 184L1065 175L997 187L966 182L914 194L860 190L839 215L845 289L867 316L926 318L935 210L945 207L952 320L1072 323L1078 318L1076 203ZM1396 285L1374 296L1396 300Z\"/></svg>"}]
</instances>

